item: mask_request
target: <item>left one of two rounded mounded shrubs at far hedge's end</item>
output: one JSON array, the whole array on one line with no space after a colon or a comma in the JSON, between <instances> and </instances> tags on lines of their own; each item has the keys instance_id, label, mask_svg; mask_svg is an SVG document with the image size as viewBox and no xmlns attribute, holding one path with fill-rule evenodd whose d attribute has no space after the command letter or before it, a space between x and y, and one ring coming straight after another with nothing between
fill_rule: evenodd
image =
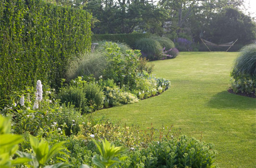
<instances>
[{"instance_id":1,"label":"left one of two rounded mounded shrubs at far hedge's end","mask_svg":"<svg viewBox=\"0 0 256 168\"><path fill-rule=\"evenodd\" d=\"M138 40L135 48L141 50L142 57L146 57L148 60L159 60L163 49L161 44L153 38Z\"/></svg>"}]
</instances>

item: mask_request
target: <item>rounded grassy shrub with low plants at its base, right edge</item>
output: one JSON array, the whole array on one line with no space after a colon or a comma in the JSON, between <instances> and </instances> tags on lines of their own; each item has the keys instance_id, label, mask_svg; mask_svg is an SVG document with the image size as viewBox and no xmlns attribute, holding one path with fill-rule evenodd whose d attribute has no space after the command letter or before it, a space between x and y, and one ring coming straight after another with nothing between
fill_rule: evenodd
<instances>
[{"instance_id":1,"label":"rounded grassy shrub with low plants at its base, right edge","mask_svg":"<svg viewBox=\"0 0 256 168\"><path fill-rule=\"evenodd\" d=\"M235 93L256 94L256 44L241 49L235 60L231 77L231 88Z\"/></svg>"}]
</instances>

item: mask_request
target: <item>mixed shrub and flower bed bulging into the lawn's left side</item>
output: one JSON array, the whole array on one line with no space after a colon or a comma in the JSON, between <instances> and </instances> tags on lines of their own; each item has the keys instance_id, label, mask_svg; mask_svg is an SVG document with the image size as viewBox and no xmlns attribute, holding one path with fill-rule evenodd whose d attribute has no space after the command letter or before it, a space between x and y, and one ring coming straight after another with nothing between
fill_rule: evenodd
<instances>
[{"instance_id":1,"label":"mixed shrub and flower bed bulging into the lawn's left side","mask_svg":"<svg viewBox=\"0 0 256 168\"><path fill-rule=\"evenodd\" d=\"M60 89L58 98L88 113L161 94L170 82L150 75L152 64L140 56L122 43L100 42L93 53L72 59L67 76L75 79Z\"/></svg>"}]
</instances>

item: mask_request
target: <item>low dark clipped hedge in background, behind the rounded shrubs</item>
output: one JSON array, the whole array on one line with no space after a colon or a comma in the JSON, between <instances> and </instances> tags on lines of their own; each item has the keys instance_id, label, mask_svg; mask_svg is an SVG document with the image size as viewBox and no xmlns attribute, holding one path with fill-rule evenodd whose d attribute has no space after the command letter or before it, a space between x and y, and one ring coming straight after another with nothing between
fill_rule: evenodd
<instances>
[{"instance_id":1,"label":"low dark clipped hedge in background, behind the rounded shrubs","mask_svg":"<svg viewBox=\"0 0 256 168\"><path fill-rule=\"evenodd\" d=\"M113 41L128 44L131 48L135 48L136 41L141 38L149 38L149 33L135 33L135 34L109 34L109 35L93 35L92 41Z\"/></svg>"}]
</instances>

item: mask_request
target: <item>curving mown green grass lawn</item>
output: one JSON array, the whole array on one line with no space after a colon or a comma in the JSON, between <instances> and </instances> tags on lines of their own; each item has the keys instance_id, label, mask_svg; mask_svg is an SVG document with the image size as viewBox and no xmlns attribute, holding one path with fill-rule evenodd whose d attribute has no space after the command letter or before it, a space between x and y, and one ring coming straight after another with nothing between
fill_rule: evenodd
<instances>
[{"instance_id":1,"label":"curving mown green grass lawn","mask_svg":"<svg viewBox=\"0 0 256 168\"><path fill-rule=\"evenodd\" d=\"M141 128L174 125L181 133L215 144L221 168L256 168L256 99L227 92L238 53L181 52L154 61L154 74L171 81L161 94L139 103L102 109L102 117Z\"/></svg>"}]
</instances>

